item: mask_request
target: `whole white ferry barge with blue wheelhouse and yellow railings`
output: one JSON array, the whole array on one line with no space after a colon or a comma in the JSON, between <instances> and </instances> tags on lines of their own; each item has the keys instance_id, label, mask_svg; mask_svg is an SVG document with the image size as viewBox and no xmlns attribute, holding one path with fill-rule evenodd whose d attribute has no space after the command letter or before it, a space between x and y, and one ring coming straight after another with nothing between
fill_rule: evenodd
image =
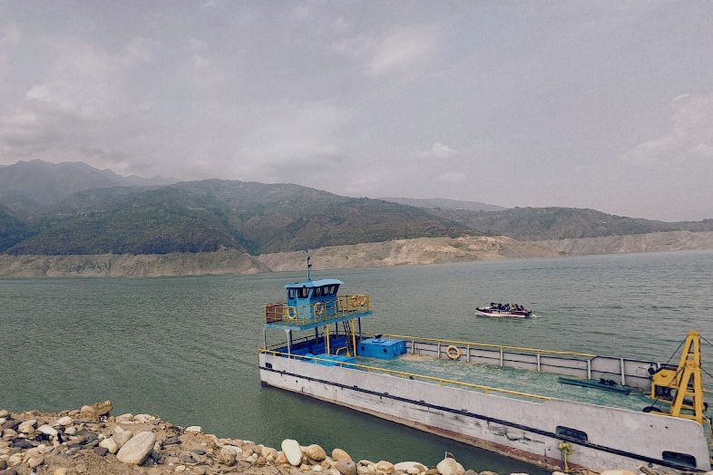
<instances>
[{"instance_id":1,"label":"whole white ferry barge with blue wheelhouse and yellow railings","mask_svg":"<svg viewBox=\"0 0 713 475\"><path fill-rule=\"evenodd\" d=\"M371 299L338 295L342 284L308 274L285 286L287 301L265 305L263 385L550 470L710 470L696 332L678 365L366 334ZM269 330L285 340L269 345ZM597 382L630 391L599 391Z\"/></svg>"}]
</instances>

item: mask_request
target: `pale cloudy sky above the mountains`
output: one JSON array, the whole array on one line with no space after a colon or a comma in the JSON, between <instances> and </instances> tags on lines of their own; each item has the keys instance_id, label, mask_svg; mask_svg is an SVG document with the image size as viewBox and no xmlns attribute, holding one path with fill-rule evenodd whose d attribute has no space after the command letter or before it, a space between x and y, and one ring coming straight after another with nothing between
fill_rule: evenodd
<instances>
[{"instance_id":1,"label":"pale cloudy sky above the mountains","mask_svg":"<svg viewBox=\"0 0 713 475\"><path fill-rule=\"evenodd\" d=\"M0 2L0 163L713 218L713 4Z\"/></svg>"}]
</instances>

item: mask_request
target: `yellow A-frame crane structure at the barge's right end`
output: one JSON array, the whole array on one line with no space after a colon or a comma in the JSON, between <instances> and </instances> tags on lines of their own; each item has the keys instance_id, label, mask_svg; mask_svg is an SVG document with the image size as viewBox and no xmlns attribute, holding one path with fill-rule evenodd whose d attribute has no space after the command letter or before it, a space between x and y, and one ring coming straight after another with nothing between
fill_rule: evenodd
<instances>
[{"instance_id":1,"label":"yellow A-frame crane structure at the barge's right end","mask_svg":"<svg viewBox=\"0 0 713 475\"><path fill-rule=\"evenodd\" d=\"M650 397L669 404L671 416L703 423L703 376L700 364L700 335L692 330L683 343L676 369L660 368L651 375Z\"/></svg>"}]
</instances>

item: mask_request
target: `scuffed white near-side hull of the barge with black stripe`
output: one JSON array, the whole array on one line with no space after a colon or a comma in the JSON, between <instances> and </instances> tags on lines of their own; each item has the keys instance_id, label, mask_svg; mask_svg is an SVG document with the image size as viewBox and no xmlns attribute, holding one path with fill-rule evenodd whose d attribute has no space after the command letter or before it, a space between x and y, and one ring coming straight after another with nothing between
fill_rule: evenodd
<instances>
[{"instance_id":1,"label":"scuffed white near-side hull of the barge with black stripe","mask_svg":"<svg viewBox=\"0 0 713 475\"><path fill-rule=\"evenodd\" d=\"M703 428L693 421L557 399L532 402L272 354L260 354L259 364L266 385L550 470L563 469L562 441L571 445L568 461L575 470L681 469L663 460L664 451L689 454L696 469L710 470ZM586 433L586 441L562 437L560 427Z\"/></svg>"}]
</instances>

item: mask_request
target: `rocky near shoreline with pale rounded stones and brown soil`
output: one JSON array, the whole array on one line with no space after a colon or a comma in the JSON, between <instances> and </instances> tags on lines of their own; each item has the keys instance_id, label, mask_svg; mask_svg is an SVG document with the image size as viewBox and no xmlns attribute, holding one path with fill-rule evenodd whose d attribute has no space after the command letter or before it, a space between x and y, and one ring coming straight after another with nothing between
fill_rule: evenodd
<instances>
[{"instance_id":1,"label":"rocky near shoreline with pale rounded stones and brown soil","mask_svg":"<svg viewBox=\"0 0 713 475\"><path fill-rule=\"evenodd\" d=\"M352 460L342 449L327 454L317 444L285 440L278 450L253 441L219 439L200 426L183 428L149 414L112 416L112 409L112 402L103 401L52 413L0 410L0 475L498 475L465 470L447 453L435 467L416 461ZM641 470L643 475L660 475ZM601 475L638 474L610 470Z\"/></svg>"}]
</instances>

